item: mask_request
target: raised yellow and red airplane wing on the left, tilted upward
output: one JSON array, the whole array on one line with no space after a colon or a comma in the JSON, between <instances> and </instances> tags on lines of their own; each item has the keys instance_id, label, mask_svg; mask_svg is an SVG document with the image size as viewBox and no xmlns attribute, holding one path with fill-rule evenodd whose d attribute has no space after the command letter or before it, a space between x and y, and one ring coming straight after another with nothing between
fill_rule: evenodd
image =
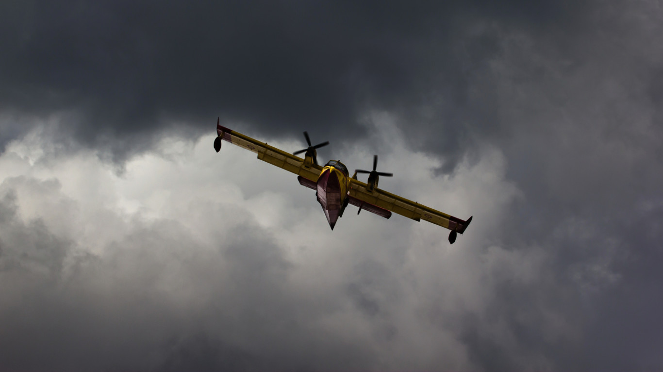
<instances>
[{"instance_id":1,"label":"raised yellow and red airplane wing on the left, tilted upward","mask_svg":"<svg viewBox=\"0 0 663 372\"><path fill-rule=\"evenodd\" d=\"M255 152L258 154L258 159L263 162L276 165L277 167L295 173L296 175L300 175L306 179L310 179L311 181L318 181L318 176L320 176L320 172L322 171L320 165L307 162L298 156L279 150L274 146L269 146L265 142L254 140L253 138L245 136L235 130L230 130L225 126L221 126L218 119L216 123L216 132L219 135L214 142L214 148L217 152L221 148L221 140L224 140L241 148Z\"/></svg>"}]
</instances>

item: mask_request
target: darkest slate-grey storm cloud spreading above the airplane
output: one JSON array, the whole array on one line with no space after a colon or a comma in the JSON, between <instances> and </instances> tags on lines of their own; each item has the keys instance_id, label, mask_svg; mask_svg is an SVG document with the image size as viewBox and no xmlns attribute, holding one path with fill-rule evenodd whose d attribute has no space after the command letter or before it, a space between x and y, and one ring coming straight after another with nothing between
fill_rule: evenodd
<instances>
[{"instance_id":1,"label":"darkest slate-grey storm cloud spreading above the airplane","mask_svg":"<svg viewBox=\"0 0 663 372\"><path fill-rule=\"evenodd\" d=\"M196 135L218 115L270 134L316 128L321 138L343 138L361 132L366 109L407 111L441 86L460 106L450 118L469 120L493 113L494 105L467 102L464 89L497 40L466 26L550 28L572 23L577 9L558 1L5 2L0 97L3 111L80 114L66 135L120 159L172 120L196 122L188 128Z\"/></svg>"}]
</instances>

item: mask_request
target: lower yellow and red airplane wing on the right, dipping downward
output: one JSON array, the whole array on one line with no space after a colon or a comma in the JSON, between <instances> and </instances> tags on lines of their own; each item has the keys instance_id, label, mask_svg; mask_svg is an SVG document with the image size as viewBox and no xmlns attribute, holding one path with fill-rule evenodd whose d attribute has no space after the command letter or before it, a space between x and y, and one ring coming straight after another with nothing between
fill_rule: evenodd
<instances>
[{"instance_id":1,"label":"lower yellow and red airplane wing on the right, dipping downward","mask_svg":"<svg viewBox=\"0 0 663 372\"><path fill-rule=\"evenodd\" d=\"M439 210L426 207L414 201L399 197L387 191L375 188L373 191L367 190L367 184L357 179L350 179L349 195L365 203L370 203L381 209L391 210L401 216L412 218L415 221L426 220L436 225L452 230L449 236L450 242L455 241L455 233L463 234L465 228L471 222L472 217L467 220L450 216ZM453 240L453 241L452 241Z\"/></svg>"}]
</instances>

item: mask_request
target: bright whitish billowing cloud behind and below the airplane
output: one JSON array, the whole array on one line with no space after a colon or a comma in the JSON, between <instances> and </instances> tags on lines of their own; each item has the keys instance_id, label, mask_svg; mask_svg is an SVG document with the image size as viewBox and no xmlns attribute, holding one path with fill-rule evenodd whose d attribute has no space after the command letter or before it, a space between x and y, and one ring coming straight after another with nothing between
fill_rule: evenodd
<instances>
[{"instance_id":1,"label":"bright whitish billowing cloud behind and below the airplane","mask_svg":"<svg viewBox=\"0 0 663 372\"><path fill-rule=\"evenodd\" d=\"M159 367L182 348L198 348L191 340L201 332L212 348L220 342L258 367L477 369L473 355L479 351L468 342L468 330L496 343L511 340L505 353L514 365L554 363L523 351L504 320L511 308L495 308L495 290L509 281L527 289L552 285L544 250L500 246L503 219L521 198L505 181L505 157L487 148L478 162L436 176L440 160L408 148L393 118L379 114L373 122L379 167L395 173L381 187L461 218L474 215L453 246L446 230L397 215L383 220L348 210L332 232L314 193L294 175L231 144L216 154L213 134L195 144L164 138L119 175L91 150L48 151L37 129L0 156L0 195L16 197L15 226L30 234L31 224L43 224L53 242L68 247L62 248L67 257L53 274L60 275L59 287L26 267L0 272L3 291L32 291L37 304L56 308L48 322L69 324L82 339L112 338L108 349L86 347L97 357L86 362L92 368L125 352L119 340L127 338L145 356L131 353L126 363ZM300 146L262 139L286 151ZM334 145L347 154L350 169L369 167L366 150ZM50 249L22 246L28 240L7 226L1 260L23 260L23 248ZM34 285L26 287L26 280ZM29 304L5 304L3 323L7 309L23 306ZM68 306L78 306L74 316L105 325L86 328L62 310ZM574 337L559 327L568 326L559 308L546 311L523 324L543 320L542 332L556 332L555 340ZM467 316L477 324L467 324ZM12 332L32 329L19 323L0 338L5 344ZM173 338L179 346L168 351ZM60 351L71 357L74 349ZM341 354L348 359L338 359ZM45 360L63 365L65 356Z\"/></svg>"}]
</instances>

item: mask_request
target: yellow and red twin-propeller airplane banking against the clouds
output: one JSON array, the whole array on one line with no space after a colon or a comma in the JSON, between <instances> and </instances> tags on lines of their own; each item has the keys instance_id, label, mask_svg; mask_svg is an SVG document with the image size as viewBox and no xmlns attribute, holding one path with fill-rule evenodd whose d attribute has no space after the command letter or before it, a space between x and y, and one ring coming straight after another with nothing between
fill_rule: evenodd
<instances>
[{"instance_id":1,"label":"yellow and red twin-propeller airplane banking against the clouds","mask_svg":"<svg viewBox=\"0 0 663 372\"><path fill-rule=\"evenodd\" d=\"M306 138L308 147L292 154L221 126L220 118L216 120L216 132L217 138L214 140L214 150L216 152L221 150L221 140L230 142L257 153L258 159L263 160L263 162L295 173L301 185L316 190L316 199L318 199L318 203L325 212L331 230L333 230L338 218L343 216L343 211L349 204L359 207L357 214L361 210L367 210L384 218L389 218L391 212L394 212L415 221L426 220L448 228L451 230L449 234L450 244L455 242L457 234L465 232L472 221L471 216L467 220L461 220L439 210L378 189L379 176L391 177L392 173L376 170L377 155L373 158L373 170L355 169L355 173L350 177L347 167L338 160L330 160L324 166L318 164L316 150L327 146L329 142L312 146L307 132L304 132L304 138ZM304 159L297 156L302 152L304 153ZM367 173L369 175L367 183L359 181L357 173Z\"/></svg>"}]
</instances>

